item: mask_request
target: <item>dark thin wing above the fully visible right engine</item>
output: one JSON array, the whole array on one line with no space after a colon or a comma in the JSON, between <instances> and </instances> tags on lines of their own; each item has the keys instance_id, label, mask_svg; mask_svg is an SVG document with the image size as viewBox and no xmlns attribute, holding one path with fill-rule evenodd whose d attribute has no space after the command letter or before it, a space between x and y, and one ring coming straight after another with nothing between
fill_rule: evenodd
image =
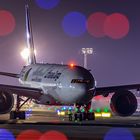
<instances>
[{"instance_id":1,"label":"dark thin wing above the fully visible right engine","mask_svg":"<svg viewBox=\"0 0 140 140\"><path fill-rule=\"evenodd\" d=\"M97 87L94 96L97 95L105 95L109 93L113 93L119 90L140 90L140 84L132 84L132 85L121 85L121 86L109 86L109 87Z\"/></svg>"}]
</instances>

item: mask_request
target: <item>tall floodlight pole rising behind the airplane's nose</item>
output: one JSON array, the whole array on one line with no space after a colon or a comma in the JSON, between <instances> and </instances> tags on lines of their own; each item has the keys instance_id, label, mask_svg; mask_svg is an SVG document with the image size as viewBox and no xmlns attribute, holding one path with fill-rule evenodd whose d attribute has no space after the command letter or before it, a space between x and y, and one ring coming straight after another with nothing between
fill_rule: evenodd
<instances>
[{"instance_id":1,"label":"tall floodlight pole rising behind the airplane's nose","mask_svg":"<svg viewBox=\"0 0 140 140\"><path fill-rule=\"evenodd\" d=\"M82 54L84 55L84 68L87 69L87 55L93 54L93 48L82 48Z\"/></svg>"}]
</instances>

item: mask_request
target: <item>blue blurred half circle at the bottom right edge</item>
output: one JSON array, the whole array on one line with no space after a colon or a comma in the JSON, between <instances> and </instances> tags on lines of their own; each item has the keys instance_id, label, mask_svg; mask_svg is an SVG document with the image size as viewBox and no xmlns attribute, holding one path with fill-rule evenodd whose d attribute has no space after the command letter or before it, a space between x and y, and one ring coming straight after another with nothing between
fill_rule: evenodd
<instances>
[{"instance_id":1,"label":"blue blurred half circle at the bottom right edge","mask_svg":"<svg viewBox=\"0 0 140 140\"><path fill-rule=\"evenodd\" d=\"M104 140L135 140L135 138L126 128L112 128L106 133Z\"/></svg>"}]
</instances>

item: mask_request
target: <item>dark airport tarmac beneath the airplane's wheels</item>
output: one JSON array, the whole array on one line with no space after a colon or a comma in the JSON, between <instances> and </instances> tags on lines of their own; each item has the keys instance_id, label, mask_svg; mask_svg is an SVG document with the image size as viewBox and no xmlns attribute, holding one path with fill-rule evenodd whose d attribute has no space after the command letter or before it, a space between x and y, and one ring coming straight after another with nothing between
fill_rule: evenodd
<instances>
[{"instance_id":1,"label":"dark airport tarmac beneath the airplane's wheels","mask_svg":"<svg viewBox=\"0 0 140 140\"><path fill-rule=\"evenodd\" d=\"M67 117L58 117L56 112L34 111L27 120L8 120L8 117L8 114L0 116L0 129L9 130L15 137L32 129L40 131L42 135L50 131L61 132L67 138L64 140L140 140L140 116L69 122Z\"/></svg>"}]
</instances>

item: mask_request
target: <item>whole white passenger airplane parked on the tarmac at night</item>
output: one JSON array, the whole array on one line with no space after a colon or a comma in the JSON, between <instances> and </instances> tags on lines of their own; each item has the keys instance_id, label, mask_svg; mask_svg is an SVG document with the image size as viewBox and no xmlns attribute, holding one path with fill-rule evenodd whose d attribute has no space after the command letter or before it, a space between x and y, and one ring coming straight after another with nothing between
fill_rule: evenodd
<instances>
[{"instance_id":1,"label":"whole white passenger airplane parked on the tarmac at night","mask_svg":"<svg viewBox=\"0 0 140 140\"><path fill-rule=\"evenodd\" d=\"M19 74L0 72L2 76L19 79L21 86L0 84L0 114L10 113L10 119L26 119L22 106L30 99L43 105L84 106L87 120L94 120L89 112L95 96L111 97L110 107L119 116L130 116L137 109L137 99L131 90L139 90L140 84L97 87L90 70L78 65L41 64L36 62L29 4L25 4L26 40L30 49L28 65ZM13 95L17 95L15 99ZM22 97L27 97L23 101ZM15 110L12 110L16 101Z\"/></svg>"}]
</instances>

